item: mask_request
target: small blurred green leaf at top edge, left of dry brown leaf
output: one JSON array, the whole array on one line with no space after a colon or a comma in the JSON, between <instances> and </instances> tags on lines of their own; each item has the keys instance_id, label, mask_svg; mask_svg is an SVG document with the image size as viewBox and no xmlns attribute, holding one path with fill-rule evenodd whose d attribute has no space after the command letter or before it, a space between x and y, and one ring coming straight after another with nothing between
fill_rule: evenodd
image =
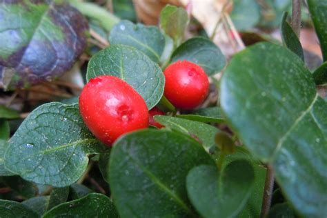
<instances>
[{"instance_id":1,"label":"small blurred green leaf at top edge, left of dry brown leaf","mask_svg":"<svg viewBox=\"0 0 327 218\"><path fill-rule=\"evenodd\" d=\"M133 22L137 21L137 14L132 0L112 0L112 8L115 14L121 19Z\"/></svg>"}]
</instances>

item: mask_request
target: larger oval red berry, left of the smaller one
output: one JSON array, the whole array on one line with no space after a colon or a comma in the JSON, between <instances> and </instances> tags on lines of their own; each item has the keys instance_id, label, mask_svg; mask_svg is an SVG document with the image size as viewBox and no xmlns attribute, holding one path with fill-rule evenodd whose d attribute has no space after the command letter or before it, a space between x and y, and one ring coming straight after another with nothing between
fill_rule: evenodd
<instances>
[{"instance_id":1,"label":"larger oval red berry, left of the smaller one","mask_svg":"<svg viewBox=\"0 0 327 218\"><path fill-rule=\"evenodd\" d=\"M146 102L118 77L90 79L79 97L79 110L93 135L107 145L126 132L148 127Z\"/></svg>"}]
</instances>

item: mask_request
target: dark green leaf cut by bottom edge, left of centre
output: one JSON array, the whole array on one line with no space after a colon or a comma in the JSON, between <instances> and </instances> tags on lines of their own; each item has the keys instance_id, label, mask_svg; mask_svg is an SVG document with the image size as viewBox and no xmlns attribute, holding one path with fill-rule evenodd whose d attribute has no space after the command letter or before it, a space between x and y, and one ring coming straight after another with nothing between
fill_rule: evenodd
<instances>
[{"instance_id":1,"label":"dark green leaf cut by bottom edge, left of centre","mask_svg":"<svg viewBox=\"0 0 327 218\"><path fill-rule=\"evenodd\" d=\"M109 197L91 193L81 199L60 204L46 212L43 217L118 217L118 215Z\"/></svg>"}]
</instances>

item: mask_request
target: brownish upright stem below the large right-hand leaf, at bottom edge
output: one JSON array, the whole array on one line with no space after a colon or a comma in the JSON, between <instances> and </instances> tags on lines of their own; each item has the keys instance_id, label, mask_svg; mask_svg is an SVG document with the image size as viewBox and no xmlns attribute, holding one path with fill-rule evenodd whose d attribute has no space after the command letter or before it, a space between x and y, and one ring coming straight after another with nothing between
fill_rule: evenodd
<instances>
[{"instance_id":1,"label":"brownish upright stem below the large right-hand leaf, at bottom edge","mask_svg":"<svg viewBox=\"0 0 327 218\"><path fill-rule=\"evenodd\" d=\"M273 167L271 165L267 165L266 182L264 185L264 197L262 199L261 205L261 218L264 218L268 215L271 204L271 198L273 197L274 181L275 176L273 172Z\"/></svg>"}]
</instances>

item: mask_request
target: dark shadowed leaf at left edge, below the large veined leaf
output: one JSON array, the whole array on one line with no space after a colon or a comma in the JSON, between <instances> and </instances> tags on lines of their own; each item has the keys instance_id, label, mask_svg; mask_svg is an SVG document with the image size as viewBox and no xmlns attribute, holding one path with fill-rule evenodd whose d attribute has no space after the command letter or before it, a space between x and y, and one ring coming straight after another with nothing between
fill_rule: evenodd
<instances>
[{"instance_id":1,"label":"dark shadowed leaf at left edge, below the large veined leaf","mask_svg":"<svg viewBox=\"0 0 327 218\"><path fill-rule=\"evenodd\" d=\"M1 177L1 181L23 199L34 197L37 194L37 187L35 184L21 179L19 176Z\"/></svg>"}]
</instances>

